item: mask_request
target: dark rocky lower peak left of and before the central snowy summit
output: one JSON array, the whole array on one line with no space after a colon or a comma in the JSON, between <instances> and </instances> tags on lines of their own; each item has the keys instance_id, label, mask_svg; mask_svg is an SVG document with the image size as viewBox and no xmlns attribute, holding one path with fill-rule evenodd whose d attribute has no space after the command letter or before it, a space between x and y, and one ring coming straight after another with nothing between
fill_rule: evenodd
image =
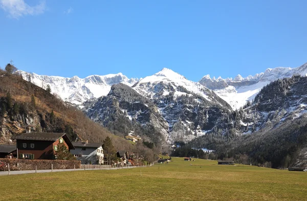
<instances>
[{"instance_id":1,"label":"dark rocky lower peak left of and before the central snowy summit","mask_svg":"<svg viewBox=\"0 0 307 201\"><path fill-rule=\"evenodd\" d=\"M158 108L125 84L113 85L107 96L86 109L86 114L117 135L133 133L158 146L167 141L168 124Z\"/></svg>"}]
</instances>

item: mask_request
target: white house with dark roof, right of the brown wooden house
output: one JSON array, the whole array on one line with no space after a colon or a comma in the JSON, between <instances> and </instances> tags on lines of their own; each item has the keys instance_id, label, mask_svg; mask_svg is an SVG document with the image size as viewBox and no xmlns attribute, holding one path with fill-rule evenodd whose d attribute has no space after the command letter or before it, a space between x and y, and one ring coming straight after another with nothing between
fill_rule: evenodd
<instances>
[{"instance_id":1,"label":"white house with dark roof, right of the brown wooden house","mask_svg":"<svg viewBox=\"0 0 307 201\"><path fill-rule=\"evenodd\" d=\"M73 142L75 147L71 150L71 153L76 157L81 164L103 164L103 148L102 143L90 143L90 142Z\"/></svg>"}]
</instances>

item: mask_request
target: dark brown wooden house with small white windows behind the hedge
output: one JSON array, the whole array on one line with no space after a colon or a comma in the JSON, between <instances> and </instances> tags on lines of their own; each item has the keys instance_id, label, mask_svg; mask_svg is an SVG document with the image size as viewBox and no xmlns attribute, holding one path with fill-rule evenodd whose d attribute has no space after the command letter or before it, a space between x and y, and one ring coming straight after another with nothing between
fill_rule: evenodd
<instances>
[{"instance_id":1,"label":"dark brown wooden house with small white windows behind the hedge","mask_svg":"<svg viewBox=\"0 0 307 201\"><path fill-rule=\"evenodd\" d=\"M52 160L59 143L75 149L65 133L26 132L15 139L18 159Z\"/></svg>"}]
</instances>

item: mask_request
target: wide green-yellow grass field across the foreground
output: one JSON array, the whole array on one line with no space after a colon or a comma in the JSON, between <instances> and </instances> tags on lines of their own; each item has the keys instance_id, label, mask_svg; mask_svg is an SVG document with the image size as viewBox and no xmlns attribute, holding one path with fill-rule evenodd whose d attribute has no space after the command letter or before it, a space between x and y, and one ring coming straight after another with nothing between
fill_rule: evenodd
<instances>
[{"instance_id":1,"label":"wide green-yellow grass field across the foreground","mask_svg":"<svg viewBox=\"0 0 307 201\"><path fill-rule=\"evenodd\" d=\"M172 160L148 168L1 176L0 200L307 200L306 172Z\"/></svg>"}]
</instances>

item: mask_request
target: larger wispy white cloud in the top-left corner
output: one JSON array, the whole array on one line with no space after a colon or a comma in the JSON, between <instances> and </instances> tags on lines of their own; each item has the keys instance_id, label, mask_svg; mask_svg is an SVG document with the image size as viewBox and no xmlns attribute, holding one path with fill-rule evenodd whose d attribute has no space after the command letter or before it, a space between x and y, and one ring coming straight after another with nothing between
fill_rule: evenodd
<instances>
[{"instance_id":1,"label":"larger wispy white cloud in the top-left corner","mask_svg":"<svg viewBox=\"0 0 307 201\"><path fill-rule=\"evenodd\" d=\"M40 1L36 6L29 6L25 0L0 0L0 7L9 13L9 17L18 19L26 15L42 14L46 10L46 2Z\"/></svg>"}]
</instances>

